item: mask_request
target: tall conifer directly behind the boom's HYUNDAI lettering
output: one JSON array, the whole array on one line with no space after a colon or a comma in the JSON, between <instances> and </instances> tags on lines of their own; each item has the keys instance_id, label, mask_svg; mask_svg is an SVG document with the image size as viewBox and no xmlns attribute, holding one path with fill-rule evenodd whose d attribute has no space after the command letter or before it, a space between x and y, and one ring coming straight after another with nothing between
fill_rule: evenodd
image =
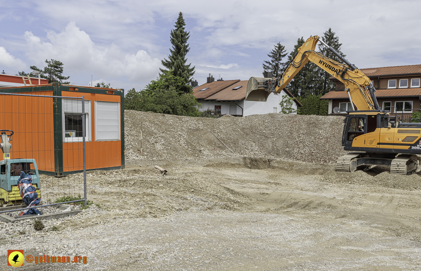
<instances>
[{"instance_id":1,"label":"tall conifer directly behind the boom's HYUNDAI lettering","mask_svg":"<svg viewBox=\"0 0 421 271\"><path fill-rule=\"evenodd\" d=\"M325 31L323 33L322 41L331 46L333 49L335 49L338 53L340 53L342 56L346 56L341 52L341 45L342 43L339 43L339 37L335 36L335 32L332 32L332 29L329 28L328 31ZM319 51L325 55L325 57L328 57L330 59L333 59L339 63L342 63L342 61L334 55L332 52L329 51L329 49L323 45L321 42L319 43ZM331 90L335 89L335 83L329 81L329 77L332 76L331 74L325 72L321 68L318 68L320 73L320 80L322 83L322 91L321 93L324 95L328 93Z\"/></svg>"}]
</instances>

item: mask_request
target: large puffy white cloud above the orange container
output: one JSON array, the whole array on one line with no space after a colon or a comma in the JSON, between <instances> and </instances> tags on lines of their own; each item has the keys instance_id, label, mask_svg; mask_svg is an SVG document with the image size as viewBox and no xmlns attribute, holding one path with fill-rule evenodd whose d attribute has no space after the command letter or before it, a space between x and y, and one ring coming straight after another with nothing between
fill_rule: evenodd
<instances>
[{"instance_id":1,"label":"large puffy white cloud above the orange container","mask_svg":"<svg viewBox=\"0 0 421 271\"><path fill-rule=\"evenodd\" d=\"M64 74L73 74L76 78L93 75L94 78L107 77L109 80L127 78L132 83L144 84L157 75L161 66L160 60L144 50L130 54L120 50L116 44L95 44L75 22L68 23L59 33L47 31L48 41L30 31L26 31L24 37L29 60L40 67L45 66L46 59L60 60L64 63ZM75 78L69 80L74 82Z\"/></svg>"}]
</instances>

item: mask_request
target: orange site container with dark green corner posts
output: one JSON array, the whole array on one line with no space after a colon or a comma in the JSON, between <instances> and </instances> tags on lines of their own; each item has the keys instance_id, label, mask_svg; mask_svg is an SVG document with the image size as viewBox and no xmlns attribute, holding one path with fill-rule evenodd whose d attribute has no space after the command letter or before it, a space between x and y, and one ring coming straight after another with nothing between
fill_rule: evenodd
<instances>
[{"instance_id":1,"label":"orange site container with dark green corner posts","mask_svg":"<svg viewBox=\"0 0 421 271\"><path fill-rule=\"evenodd\" d=\"M0 129L14 132L11 159L35 159L41 174L64 176L83 172L82 133L65 124L72 117L79 116L81 120L81 100L1 93L66 97L83 95L87 114L86 170L124 168L123 89L60 83L0 89ZM69 113L66 114L65 110ZM111 128L107 126L109 123Z\"/></svg>"}]
</instances>

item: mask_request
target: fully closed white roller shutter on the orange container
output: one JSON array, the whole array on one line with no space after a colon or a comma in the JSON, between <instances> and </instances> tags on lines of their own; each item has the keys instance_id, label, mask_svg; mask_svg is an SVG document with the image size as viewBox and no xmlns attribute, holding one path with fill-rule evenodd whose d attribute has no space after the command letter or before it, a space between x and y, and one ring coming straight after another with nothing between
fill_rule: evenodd
<instances>
[{"instance_id":1,"label":"fully closed white roller shutter on the orange container","mask_svg":"<svg viewBox=\"0 0 421 271\"><path fill-rule=\"evenodd\" d=\"M120 140L120 103L95 101L95 141Z\"/></svg>"}]
</instances>

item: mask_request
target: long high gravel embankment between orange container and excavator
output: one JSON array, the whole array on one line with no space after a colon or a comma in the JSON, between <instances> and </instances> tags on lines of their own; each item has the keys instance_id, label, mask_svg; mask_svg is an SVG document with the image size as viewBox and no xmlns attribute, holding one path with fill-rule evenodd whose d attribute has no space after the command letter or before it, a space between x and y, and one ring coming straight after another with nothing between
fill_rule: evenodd
<instances>
[{"instance_id":1,"label":"long high gravel embankment between orange container and excavator","mask_svg":"<svg viewBox=\"0 0 421 271\"><path fill-rule=\"evenodd\" d=\"M258 156L334 163L346 153L342 130L340 116L271 113L212 119L125 110L125 159Z\"/></svg>"}]
</instances>

